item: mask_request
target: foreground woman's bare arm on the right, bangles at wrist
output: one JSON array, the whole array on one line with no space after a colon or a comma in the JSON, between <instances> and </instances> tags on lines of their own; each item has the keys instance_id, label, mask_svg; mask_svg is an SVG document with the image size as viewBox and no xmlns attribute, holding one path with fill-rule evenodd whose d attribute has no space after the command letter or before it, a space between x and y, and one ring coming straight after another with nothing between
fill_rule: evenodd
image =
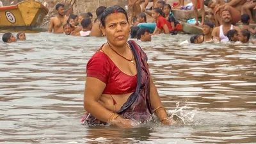
<instances>
[{"instance_id":1,"label":"foreground woman's bare arm on the right, bangles at wrist","mask_svg":"<svg viewBox=\"0 0 256 144\"><path fill-rule=\"evenodd\" d=\"M154 110L155 115L161 120L164 125L172 125L172 121L168 119L166 110L163 108L156 86L153 83L152 77L150 77L150 104Z\"/></svg>"}]
</instances>

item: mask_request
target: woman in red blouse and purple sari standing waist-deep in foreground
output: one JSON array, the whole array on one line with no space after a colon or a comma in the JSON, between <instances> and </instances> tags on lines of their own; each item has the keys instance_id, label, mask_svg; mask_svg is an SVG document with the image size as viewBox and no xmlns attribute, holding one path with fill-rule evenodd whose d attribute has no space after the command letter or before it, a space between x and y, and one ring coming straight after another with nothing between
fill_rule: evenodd
<instances>
[{"instance_id":1,"label":"woman in red blouse and purple sari standing waist-deep in foreground","mask_svg":"<svg viewBox=\"0 0 256 144\"><path fill-rule=\"evenodd\" d=\"M155 113L172 125L150 77L147 55L128 41L130 25L120 6L107 8L100 19L108 42L88 61L84 90L83 124L132 127L132 120L147 122Z\"/></svg>"}]
</instances>

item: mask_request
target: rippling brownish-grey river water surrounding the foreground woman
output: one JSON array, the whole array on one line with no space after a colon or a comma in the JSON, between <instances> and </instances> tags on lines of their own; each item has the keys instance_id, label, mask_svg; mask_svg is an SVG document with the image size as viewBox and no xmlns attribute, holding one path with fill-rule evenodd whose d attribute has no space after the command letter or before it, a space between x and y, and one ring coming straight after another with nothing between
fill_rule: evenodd
<instances>
[{"instance_id":1,"label":"rippling brownish-grey river water surrounding the foreground woman","mask_svg":"<svg viewBox=\"0 0 256 144\"><path fill-rule=\"evenodd\" d=\"M86 63L104 38L0 42L0 143L256 143L256 46L179 45L188 38L138 42L164 106L186 124L134 129L80 124Z\"/></svg>"}]
</instances>

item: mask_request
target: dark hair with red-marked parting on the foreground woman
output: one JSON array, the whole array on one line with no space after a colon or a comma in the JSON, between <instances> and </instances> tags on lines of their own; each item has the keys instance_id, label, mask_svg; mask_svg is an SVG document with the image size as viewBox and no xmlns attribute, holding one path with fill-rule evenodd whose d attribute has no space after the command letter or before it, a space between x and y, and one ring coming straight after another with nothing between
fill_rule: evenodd
<instances>
[{"instance_id":1,"label":"dark hair with red-marked parting on the foreground woman","mask_svg":"<svg viewBox=\"0 0 256 144\"><path fill-rule=\"evenodd\" d=\"M106 17L108 17L108 15L112 14L112 13L124 13L126 20L128 22L128 15L125 12L124 8L122 8L121 6L109 6L106 10L104 10L104 12L102 13L101 17L100 17L100 22L102 24L102 26L105 27L105 20Z\"/></svg>"}]
</instances>

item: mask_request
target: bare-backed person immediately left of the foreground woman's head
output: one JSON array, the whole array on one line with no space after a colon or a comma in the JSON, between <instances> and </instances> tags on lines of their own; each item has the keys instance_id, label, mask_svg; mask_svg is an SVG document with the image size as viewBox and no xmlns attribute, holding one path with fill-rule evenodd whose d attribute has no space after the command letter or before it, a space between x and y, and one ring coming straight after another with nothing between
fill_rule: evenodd
<instances>
[{"instance_id":1,"label":"bare-backed person immediately left of the foreground woman's head","mask_svg":"<svg viewBox=\"0 0 256 144\"><path fill-rule=\"evenodd\" d=\"M97 18L94 20L94 23L92 25L91 36L104 36L100 30L100 17L104 10L106 10L106 6L100 6L99 8L97 8Z\"/></svg>"}]
</instances>

